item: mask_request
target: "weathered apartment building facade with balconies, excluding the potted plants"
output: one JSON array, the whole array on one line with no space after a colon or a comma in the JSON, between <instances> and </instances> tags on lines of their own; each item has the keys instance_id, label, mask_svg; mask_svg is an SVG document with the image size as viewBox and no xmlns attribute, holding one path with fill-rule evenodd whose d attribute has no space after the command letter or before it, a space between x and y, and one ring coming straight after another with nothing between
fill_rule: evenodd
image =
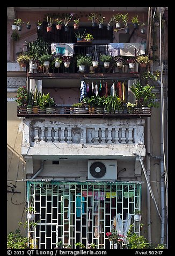
<instances>
[{"instance_id":1,"label":"weathered apartment building facade with balconies, excluding the potted plants","mask_svg":"<svg viewBox=\"0 0 175 256\"><path fill-rule=\"evenodd\" d=\"M119 12L128 13L129 33L124 27L116 29L114 20L112 30L107 30ZM64 20L65 13L79 18L78 30L72 18L68 32L64 26L57 30L56 23L47 32L47 17ZM92 13L105 17L103 29L92 26ZM145 24L145 33L133 27L136 16L140 29ZM14 19L24 22L23 29L15 31L17 41L11 36ZM37 29L39 20L42 30ZM76 31L92 34L93 40L78 42ZM21 67L18 54L30 51L30 42L39 40L47 42L52 56L71 56L70 66L62 62L59 68L53 64L39 69L33 59ZM149 55L150 62L147 69L138 63L134 69L112 64L105 68L100 54L107 53L113 58ZM91 56L99 66L80 72L78 55ZM54 248L60 241L72 248L79 242L113 248L106 232L114 227L126 236L134 224L140 236L144 223L150 243L167 245L167 8L9 7L7 56L8 233L27 221L25 235L33 238L35 248ZM144 72L155 75L157 70L157 80L149 77L147 82L154 86L158 106L146 112L129 108L128 103L136 100L132 84ZM27 110L29 104L18 105L17 90L23 86L33 94L49 93L54 110L46 112L40 105L35 113ZM114 112L74 107L85 96L114 92L122 100L122 108ZM35 209L34 221L25 212L30 206ZM141 211L140 221L135 221L136 211Z\"/></svg>"}]
</instances>

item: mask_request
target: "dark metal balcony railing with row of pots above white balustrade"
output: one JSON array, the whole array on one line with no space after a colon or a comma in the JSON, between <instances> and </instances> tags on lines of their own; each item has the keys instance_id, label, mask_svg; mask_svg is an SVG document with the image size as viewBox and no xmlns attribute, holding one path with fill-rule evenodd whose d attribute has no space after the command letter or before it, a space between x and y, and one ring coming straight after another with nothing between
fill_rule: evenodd
<instances>
[{"instance_id":1,"label":"dark metal balcony railing with row of pots above white balustrade","mask_svg":"<svg viewBox=\"0 0 175 256\"><path fill-rule=\"evenodd\" d=\"M41 109L39 106L30 107L27 106L17 106L17 116L18 117L90 117L90 118L116 118L116 117L147 117L151 116L151 109L144 108L128 108L122 106L119 110L108 112L105 108L74 108L73 106L55 106L54 108L49 108L46 110Z\"/></svg>"}]
</instances>

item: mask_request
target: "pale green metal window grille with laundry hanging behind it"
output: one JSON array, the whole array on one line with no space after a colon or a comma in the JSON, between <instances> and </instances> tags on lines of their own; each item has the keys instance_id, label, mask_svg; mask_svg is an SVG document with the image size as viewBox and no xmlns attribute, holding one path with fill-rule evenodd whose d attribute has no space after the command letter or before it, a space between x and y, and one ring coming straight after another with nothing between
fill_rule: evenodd
<instances>
[{"instance_id":1,"label":"pale green metal window grille with laundry hanging behind it","mask_svg":"<svg viewBox=\"0 0 175 256\"><path fill-rule=\"evenodd\" d=\"M125 236L129 224L140 235L140 223L133 221L141 208L140 183L28 181L27 203L34 206L37 223L30 227L28 221L28 237L41 249L53 249L59 241L71 248L78 242L112 248L106 232L115 227Z\"/></svg>"}]
</instances>

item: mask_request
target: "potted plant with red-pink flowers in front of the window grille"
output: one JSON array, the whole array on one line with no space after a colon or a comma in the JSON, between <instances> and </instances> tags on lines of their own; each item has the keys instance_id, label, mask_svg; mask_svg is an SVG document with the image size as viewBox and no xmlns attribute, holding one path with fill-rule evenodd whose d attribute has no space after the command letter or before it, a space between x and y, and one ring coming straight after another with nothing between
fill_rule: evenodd
<instances>
[{"instance_id":1,"label":"potted plant with red-pink flowers in front of the window grille","mask_svg":"<svg viewBox=\"0 0 175 256\"><path fill-rule=\"evenodd\" d=\"M112 241L113 249L121 249L121 244L123 242L123 234L119 234L119 232L115 229L112 229L111 232L107 232L106 236L110 241Z\"/></svg>"}]
</instances>

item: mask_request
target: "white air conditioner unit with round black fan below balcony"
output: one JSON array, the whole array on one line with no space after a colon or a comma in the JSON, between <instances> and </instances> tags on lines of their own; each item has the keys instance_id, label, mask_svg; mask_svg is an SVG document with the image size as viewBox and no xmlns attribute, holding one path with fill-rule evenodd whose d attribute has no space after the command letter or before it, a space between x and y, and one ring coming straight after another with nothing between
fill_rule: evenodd
<instances>
[{"instance_id":1,"label":"white air conditioner unit with round black fan below balcony","mask_svg":"<svg viewBox=\"0 0 175 256\"><path fill-rule=\"evenodd\" d=\"M116 160L89 160L88 180L116 180Z\"/></svg>"}]
</instances>

